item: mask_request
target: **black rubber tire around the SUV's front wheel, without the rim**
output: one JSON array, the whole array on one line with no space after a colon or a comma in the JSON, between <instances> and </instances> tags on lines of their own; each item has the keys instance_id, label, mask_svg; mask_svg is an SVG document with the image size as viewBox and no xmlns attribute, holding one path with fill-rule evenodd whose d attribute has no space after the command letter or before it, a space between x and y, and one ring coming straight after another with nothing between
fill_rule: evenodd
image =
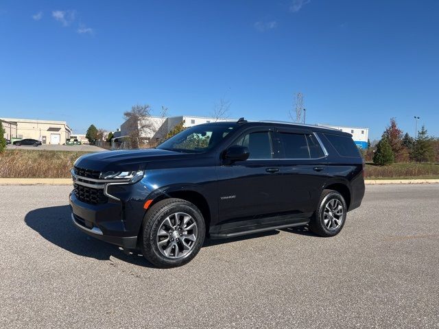
<instances>
[{"instance_id":1,"label":"black rubber tire around the SUV's front wheel, without the rim","mask_svg":"<svg viewBox=\"0 0 439 329\"><path fill-rule=\"evenodd\" d=\"M193 242L190 251L185 254L185 256L181 258L169 258L158 249L157 233L163 221L176 212L185 212L192 217L196 223L197 234L195 242ZM150 263L156 265L156 267L169 268L185 265L200 251L205 234L206 225L204 218L200 210L198 210L194 204L183 199L164 199L154 204L145 214L141 236L142 254Z\"/></svg>"}]
</instances>

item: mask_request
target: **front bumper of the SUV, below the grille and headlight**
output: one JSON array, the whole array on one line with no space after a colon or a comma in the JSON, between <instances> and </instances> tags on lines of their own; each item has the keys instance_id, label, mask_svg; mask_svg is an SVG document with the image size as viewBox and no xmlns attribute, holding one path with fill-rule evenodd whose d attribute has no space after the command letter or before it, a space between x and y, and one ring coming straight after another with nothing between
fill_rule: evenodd
<instances>
[{"instance_id":1,"label":"front bumper of the SUV, below the grille and headlight","mask_svg":"<svg viewBox=\"0 0 439 329\"><path fill-rule=\"evenodd\" d=\"M127 229L123 221L123 209L118 202L92 206L69 196L71 219L82 232L96 239L119 245L124 249L136 249L137 233Z\"/></svg>"}]
</instances>

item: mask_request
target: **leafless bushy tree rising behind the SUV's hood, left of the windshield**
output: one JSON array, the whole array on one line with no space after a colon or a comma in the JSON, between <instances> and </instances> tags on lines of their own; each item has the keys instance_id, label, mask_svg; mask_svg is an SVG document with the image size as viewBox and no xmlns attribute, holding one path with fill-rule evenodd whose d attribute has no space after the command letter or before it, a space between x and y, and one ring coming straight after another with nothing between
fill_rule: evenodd
<instances>
[{"instance_id":1,"label":"leafless bushy tree rising behind the SUV's hood, left of the windshield","mask_svg":"<svg viewBox=\"0 0 439 329\"><path fill-rule=\"evenodd\" d=\"M130 111L123 113L123 119L128 121L128 135L132 148L139 148L142 138L145 137L148 130L154 129L151 118L151 107L147 104L137 104L132 106Z\"/></svg>"}]
</instances>

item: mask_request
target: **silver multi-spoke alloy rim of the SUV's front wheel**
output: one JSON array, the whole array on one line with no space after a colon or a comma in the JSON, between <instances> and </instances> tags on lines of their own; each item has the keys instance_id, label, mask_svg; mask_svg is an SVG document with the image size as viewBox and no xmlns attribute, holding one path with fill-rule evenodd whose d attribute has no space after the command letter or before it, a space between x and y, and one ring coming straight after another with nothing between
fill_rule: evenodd
<instances>
[{"instance_id":1,"label":"silver multi-spoke alloy rim of the SUV's front wheel","mask_svg":"<svg viewBox=\"0 0 439 329\"><path fill-rule=\"evenodd\" d=\"M158 250L167 258L185 257L193 249L197 234L195 219L185 212L176 212L163 219L158 228Z\"/></svg>"}]
</instances>

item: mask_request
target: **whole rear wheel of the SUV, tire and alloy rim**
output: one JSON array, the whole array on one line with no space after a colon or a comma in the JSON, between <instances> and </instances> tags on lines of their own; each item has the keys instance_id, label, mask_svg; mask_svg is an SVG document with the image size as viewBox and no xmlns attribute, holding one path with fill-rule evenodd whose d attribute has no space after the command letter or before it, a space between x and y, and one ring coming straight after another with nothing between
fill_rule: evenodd
<instances>
[{"instance_id":1,"label":"whole rear wheel of the SUV, tire and alloy rim","mask_svg":"<svg viewBox=\"0 0 439 329\"><path fill-rule=\"evenodd\" d=\"M324 190L314 212L309 229L320 236L335 236L346 221L347 207L344 197L333 190Z\"/></svg>"}]
</instances>

